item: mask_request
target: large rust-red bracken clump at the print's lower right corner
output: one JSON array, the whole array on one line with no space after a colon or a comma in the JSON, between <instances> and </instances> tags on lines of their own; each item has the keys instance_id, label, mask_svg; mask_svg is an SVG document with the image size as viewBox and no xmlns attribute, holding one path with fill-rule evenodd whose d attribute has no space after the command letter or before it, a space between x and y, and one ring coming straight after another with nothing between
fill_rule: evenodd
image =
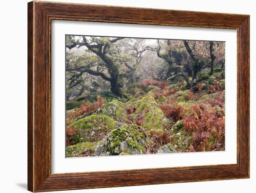
<instances>
[{"instance_id":1,"label":"large rust-red bracken clump at the print's lower right corner","mask_svg":"<svg viewBox=\"0 0 256 193\"><path fill-rule=\"evenodd\" d=\"M192 113L183 119L185 131L192 134L190 151L215 151L224 148L225 118L207 105L190 105ZM192 148L193 147L193 148Z\"/></svg>"}]
</instances>

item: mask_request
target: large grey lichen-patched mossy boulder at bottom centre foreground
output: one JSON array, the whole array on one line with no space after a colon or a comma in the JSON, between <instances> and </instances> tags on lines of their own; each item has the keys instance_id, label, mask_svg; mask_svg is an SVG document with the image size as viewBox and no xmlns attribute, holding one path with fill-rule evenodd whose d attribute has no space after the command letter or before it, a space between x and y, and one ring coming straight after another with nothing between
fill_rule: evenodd
<instances>
[{"instance_id":1,"label":"large grey lichen-patched mossy boulder at bottom centre foreground","mask_svg":"<svg viewBox=\"0 0 256 193\"><path fill-rule=\"evenodd\" d=\"M111 131L97 146L94 156L144 154L148 146L147 130L137 125L125 125Z\"/></svg>"}]
</instances>

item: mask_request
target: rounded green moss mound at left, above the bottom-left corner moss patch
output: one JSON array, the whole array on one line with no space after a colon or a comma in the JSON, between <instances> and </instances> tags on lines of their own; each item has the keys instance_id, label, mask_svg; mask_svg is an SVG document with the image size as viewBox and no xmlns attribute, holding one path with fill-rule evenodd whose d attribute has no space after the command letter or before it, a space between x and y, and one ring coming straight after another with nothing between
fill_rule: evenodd
<instances>
[{"instance_id":1,"label":"rounded green moss mound at left, above the bottom-left corner moss patch","mask_svg":"<svg viewBox=\"0 0 256 193\"><path fill-rule=\"evenodd\" d=\"M108 132L118 127L118 124L107 115L94 114L77 120L70 126L76 128L76 135L71 140L80 143L102 140Z\"/></svg>"}]
</instances>

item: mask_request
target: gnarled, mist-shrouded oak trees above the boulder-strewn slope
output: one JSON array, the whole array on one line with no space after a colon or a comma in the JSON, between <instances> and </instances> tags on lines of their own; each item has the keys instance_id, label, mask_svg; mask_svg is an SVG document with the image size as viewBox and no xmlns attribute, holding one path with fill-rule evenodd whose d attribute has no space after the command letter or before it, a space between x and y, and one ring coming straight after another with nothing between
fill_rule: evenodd
<instances>
[{"instance_id":1,"label":"gnarled, mist-shrouded oak trees above the boulder-strewn slope","mask_svg":"<svg viewBox=\"0 0 256 193\"><path fill-rule=\"evenodd\" d=\"M193 88L199 73L224 68L224 42L66 36L67 99L84 93L127 98L145 79L177 78Z\"/></svg>"}]
</instances>

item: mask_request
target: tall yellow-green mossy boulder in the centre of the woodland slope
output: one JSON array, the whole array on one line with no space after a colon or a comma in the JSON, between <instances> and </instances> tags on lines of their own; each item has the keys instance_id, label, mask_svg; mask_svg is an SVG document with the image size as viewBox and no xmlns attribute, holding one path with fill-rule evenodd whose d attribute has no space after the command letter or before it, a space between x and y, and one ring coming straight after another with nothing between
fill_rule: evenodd
<instances>
[{"instance_id":1,"label":"tall yellow-green mossy boulder in the centre of the woodland slope","mask_svg":"<svg viewBox=\"0 0 256 193\"><path fill-rule=\"evenodd\" d=\"M160 105L151 95L142 97L141 99L129 100L128 108L135 109L135 112L130 115L132 121L142 120L141 126L147 129L167 129L171 125Z\"/></svg>"}]
</instances>

